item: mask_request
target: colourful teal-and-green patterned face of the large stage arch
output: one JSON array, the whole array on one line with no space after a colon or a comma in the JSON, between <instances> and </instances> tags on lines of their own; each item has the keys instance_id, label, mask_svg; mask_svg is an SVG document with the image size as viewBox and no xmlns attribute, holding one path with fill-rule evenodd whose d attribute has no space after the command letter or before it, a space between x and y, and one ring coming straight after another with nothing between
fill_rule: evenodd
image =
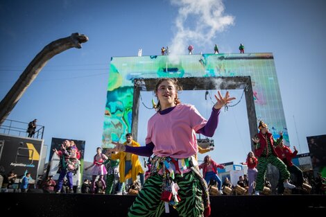
<instances>
[{"instance_id":1,"label":"colourful teal-and-green patterned face of the large stage arch","mask_svg":"<svg viewBox=\"0 0 326 217\"><path fill-rule=\"evenodd\" d=\"M289 145L273 54L222 53L112 58L103 124L103 148L111 148L112 141L125 141L124 135L131 132L133 81L136 78L219 76L250 76L257 122L264 120L275 138L279 137L278 132L283 131L284 140Z\"/></svg>"}]
</instances>

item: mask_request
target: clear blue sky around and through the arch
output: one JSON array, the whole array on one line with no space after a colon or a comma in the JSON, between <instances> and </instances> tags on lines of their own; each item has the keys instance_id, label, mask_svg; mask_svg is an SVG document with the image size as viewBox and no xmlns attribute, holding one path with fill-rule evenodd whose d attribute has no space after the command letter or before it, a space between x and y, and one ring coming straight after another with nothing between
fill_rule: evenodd
<instances>
[{"instance_id":1,"label":"clear blue sky around and through the arch","mask_svg":"<svg viewBox=\"0 0 326 217\"><path fill-rule=\"evenodd\" d=\"M201 41L196 35L185 36L185 44L194 44L195 53L212 53L214 44L222 53L238 53L240 43L246 53L273 53L291 146L307 153L306 137L326 134L325 1L232 0L223 5L218 19L231 19L223 30ZM169 0L1 1L1 99L46 44L76 32L89 37L82 49L60 53L46 64L8 119L37 118L45 126L47 145L52 137L85 140L85 160L92 161L101 144L110 58L136 56L139 48L143 55L159 55L160 48L173 44L180 33L179 8L182 5ZM200 26L198 21L205 27L196 15L187 17L183 25L194 29ZM180 53L186 54L186 47ZM191 93L180 97L185 103L194 101ZM151 93L145 98L151 99ZM205 95L202 100L196 106L208 117ZM246 159L250 137L243 102L221 114L211 153L217 162Z\"/></svg>"}]
</instances>

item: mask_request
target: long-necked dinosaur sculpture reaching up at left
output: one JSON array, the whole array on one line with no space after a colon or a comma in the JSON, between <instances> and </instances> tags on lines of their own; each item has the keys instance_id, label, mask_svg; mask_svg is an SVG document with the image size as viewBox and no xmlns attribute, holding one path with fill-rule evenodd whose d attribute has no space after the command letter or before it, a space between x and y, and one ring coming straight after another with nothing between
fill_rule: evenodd
<instances>
[{"instance_id":1,"label":"long-necked dinosaur sculpture reaching up at left","mask_svg":"<svg viewBox=\"0 0 326 217\"><path fill-rule=\"evenodd\" d=\"M6 120L7 116L10 114L12 109L18 103L19 99L22 98L22 95L26 89L33 83L36 76L42 68L45 66L53 56L66 51L71 48L80 49L82 43L88 41L86 35L80 35L79 33L73 33L69 37L60 38L55 40L50 44L46 45L40 53L38 53L30 64L23 71L22 75L19 76L15 85L13 85L3 98L0 103L0 125L3 121Z\"/></svg>"}]
</instances>

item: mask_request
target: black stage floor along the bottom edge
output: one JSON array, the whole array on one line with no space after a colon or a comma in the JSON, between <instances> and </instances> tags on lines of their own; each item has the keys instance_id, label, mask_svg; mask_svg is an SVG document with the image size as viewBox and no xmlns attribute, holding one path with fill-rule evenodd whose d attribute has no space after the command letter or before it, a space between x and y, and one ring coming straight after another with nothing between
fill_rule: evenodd
<instances>
[{"instance_id":1,"label":"black stage floor along the bottom edge","mask_svg":"<svg viewBox=\"0 0 326 217\"><path fill-rule=\"evenodd\" d=\"M211 196L215 216L325 216L326 196ZM127 216L135 196L91 194L0 193L0 216ZM175 209L163 216L178 216ZM316 217L318 217L316 216ZM191 217L191 216L187 216Z\"/></svg>"}]
</instances>

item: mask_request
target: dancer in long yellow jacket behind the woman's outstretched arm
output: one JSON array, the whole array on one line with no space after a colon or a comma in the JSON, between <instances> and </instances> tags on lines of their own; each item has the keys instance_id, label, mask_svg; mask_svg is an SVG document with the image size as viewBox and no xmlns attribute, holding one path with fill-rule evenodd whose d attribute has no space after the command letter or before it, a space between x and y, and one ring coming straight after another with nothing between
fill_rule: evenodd
<instances>
[{"instance_id":1,"label":"dancer in long yellow jacket behind the woman's outstretched arm","mask_svg":"<svg viewBox=\"0 0 326 217\"><path fill-rule=\"evenodd\" d=\"M126 142L123 143L125 146L139 147L139 143L137 141L132 140L132 134L126 134ZM139 162L138 155L132 153L126 153L121 151L117 154L112 154L111 159L119 159L119 190L118 195L123 193L123 183L126 180L132 178L132 182L137 180L137 175L139 175L141 186L144 185L144 170L141 167L141 163ZM126 192L125 192L126 193Z\"/></svg>"}]
</instances>

